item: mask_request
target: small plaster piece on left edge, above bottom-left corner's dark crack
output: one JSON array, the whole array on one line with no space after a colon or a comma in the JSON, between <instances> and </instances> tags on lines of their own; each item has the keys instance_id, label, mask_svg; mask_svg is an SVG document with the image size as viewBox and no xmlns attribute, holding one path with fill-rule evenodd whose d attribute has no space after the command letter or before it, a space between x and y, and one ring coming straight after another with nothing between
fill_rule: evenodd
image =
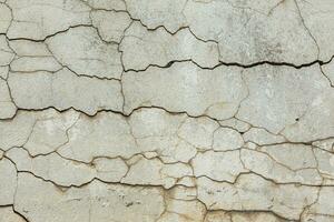
<instances>
[{"instance_id":1,"label":"small plaster piece on left edge, above bottom-left corner's dark crack","mask_svg":"<svg viewBox=\"0 0 334 222\"><path fill-rule=\"evenodd\" d=\"M6 158L0 160L0 205L12 204L17 189L17 170Z\"/></svg>"}]
</instances>

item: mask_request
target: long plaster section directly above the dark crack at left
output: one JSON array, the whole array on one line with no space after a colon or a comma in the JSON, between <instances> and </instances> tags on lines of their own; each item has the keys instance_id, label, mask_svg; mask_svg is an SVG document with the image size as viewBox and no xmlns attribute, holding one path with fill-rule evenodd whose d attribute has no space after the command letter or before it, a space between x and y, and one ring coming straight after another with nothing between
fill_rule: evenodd
<instances>
[{"instance_id":1,"label":"long plaster section directly above the dark crack at left","mask_svg":"<svg viewBox=\"0 0 334 222\"><path fill-rule=\"evenodd\" d=\"M118 81L77 77L67 69L56 73L12 72L8 83L14 103L23 109L75 108L92 115L98 110L120 111L122 107Z\"/></svg>"}]
</instances>

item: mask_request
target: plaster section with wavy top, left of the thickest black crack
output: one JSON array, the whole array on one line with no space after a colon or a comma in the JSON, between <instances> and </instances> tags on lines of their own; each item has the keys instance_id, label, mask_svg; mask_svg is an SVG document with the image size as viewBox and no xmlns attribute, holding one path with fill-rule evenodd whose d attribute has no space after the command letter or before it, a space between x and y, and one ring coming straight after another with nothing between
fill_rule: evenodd
<instances>
[{"instance_id":1,"label":"plaster section with wavy top, left of the thickest black crack","mask_svg":"<svg viewBox=\"0 0 334 222\"><path fill-rule=\"evenodd\" d=\"M174 60L191 60L206 68L219 63L217 44L196 39L189 29L170 34L164 28L148 31L140 22L127 29L120 50L127 70L145 70L151 64L165 67Z\"/></svg>"}]
</instances>

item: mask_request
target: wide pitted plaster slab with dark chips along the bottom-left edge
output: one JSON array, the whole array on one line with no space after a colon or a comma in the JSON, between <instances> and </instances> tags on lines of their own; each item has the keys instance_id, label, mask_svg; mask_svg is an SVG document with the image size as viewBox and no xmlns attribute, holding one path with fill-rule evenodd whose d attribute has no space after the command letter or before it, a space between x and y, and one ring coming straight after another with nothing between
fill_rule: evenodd
<instances>
[{"instance_id":1,"label":"wide pitted plaster slab with dark chips along the bottom-left edge","mask_svg":"<svg viewBox=\"0 0 334 222\"><path fill-rule=\"evenodd\" d=\"M18 181L14 208L33 222L154 222L165 209L161 190L157 188L94 181L61 190L29 173L19 173Z\"/></svg>"}]
</instances>

